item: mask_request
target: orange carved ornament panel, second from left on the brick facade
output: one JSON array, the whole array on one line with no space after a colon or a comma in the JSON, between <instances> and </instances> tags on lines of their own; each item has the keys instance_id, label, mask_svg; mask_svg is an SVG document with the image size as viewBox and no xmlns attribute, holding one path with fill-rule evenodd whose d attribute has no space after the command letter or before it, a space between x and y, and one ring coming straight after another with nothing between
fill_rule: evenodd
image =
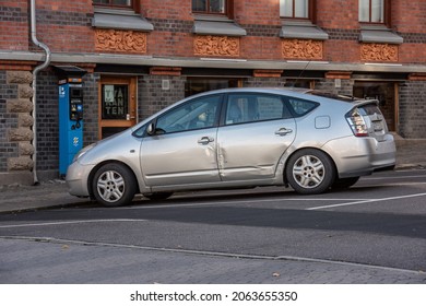
<instances>
[{"instance_id":1,"label":"orange carved ornament panel, second from left on the brick facade","mask_svg":"<svg viewBox=\"0 0 426 306\"><path fill-rule=\"evenodd\" d=\"M196 36L193 39L196 56L239 56L239 38L228 36Z\"/></svg>"}]
</instances>

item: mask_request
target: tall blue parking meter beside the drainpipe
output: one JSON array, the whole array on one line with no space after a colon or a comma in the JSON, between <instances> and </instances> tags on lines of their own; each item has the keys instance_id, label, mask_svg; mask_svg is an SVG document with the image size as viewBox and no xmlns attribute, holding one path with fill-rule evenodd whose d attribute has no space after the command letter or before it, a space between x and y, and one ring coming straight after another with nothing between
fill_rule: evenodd
<instances>
[{"instance_id":1,"label":"tall blue parking meter beside the drainpipe","mask_svg":"<svg viewBox=\"0 0 426 306\"><path fill-rule=\"evenodd\" d=\"M74 155L83 148L83 83L82 72L78 71L80 74L75 75L73 69L74 73L68 73L66 79L59 81L59 175L61 177L66 176Z\"/></svg>"}]
</instances>

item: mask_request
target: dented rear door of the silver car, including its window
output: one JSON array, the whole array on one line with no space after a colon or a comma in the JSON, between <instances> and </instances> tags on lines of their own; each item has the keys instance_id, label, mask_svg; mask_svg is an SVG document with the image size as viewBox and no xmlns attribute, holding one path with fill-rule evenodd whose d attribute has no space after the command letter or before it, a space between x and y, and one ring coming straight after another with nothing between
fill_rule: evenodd
<instances>
[{"instance_id":1,"label":"dented rear door of the silver car, including its window","mask_svg":"<svg viewBox=\"0 0 426 306\"><path fill-rule=\"evenodd\" d=\"M223 181L272 179L281 156L293 143L296 123L283 98L263 93L227 96L217 133Z\"/></svg>"}]
</instances>

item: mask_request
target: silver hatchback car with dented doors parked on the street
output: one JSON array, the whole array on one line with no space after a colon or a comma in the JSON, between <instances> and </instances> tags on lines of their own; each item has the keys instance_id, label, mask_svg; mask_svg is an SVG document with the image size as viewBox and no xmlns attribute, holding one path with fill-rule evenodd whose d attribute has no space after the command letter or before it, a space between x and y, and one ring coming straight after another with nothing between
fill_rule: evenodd
<instances>
[{"instance_id":1,"label":"silver hatchback car with dented doors parked on the street","mask_svg":"<svg viewBox=\"0 0 426 306\"><path fill-rule=\"evenodd\" d=\"M226 89L187 97L81 150L69 192L106 207L137 193L283 186L350 188L395 165L378 101L305 89Z\"/></svg>"}]
</instances>

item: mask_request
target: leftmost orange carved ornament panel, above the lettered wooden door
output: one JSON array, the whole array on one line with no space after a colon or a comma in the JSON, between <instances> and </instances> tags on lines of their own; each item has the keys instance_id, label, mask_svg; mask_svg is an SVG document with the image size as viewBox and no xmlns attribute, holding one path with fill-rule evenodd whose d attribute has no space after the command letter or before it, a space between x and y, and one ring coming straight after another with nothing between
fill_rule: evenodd
<instances>
[{"instance_id":1,"label":"leftmost orange carved ornament panel, above the lettered wooden door","mask_svg":"<svg viewBox=\"0 0 426 306\"><path fill-rule=\"evenodd\" d=\"M146 33L121 30L96 30L97 51L146 52Z\"/></svg>"}]
</instances>

